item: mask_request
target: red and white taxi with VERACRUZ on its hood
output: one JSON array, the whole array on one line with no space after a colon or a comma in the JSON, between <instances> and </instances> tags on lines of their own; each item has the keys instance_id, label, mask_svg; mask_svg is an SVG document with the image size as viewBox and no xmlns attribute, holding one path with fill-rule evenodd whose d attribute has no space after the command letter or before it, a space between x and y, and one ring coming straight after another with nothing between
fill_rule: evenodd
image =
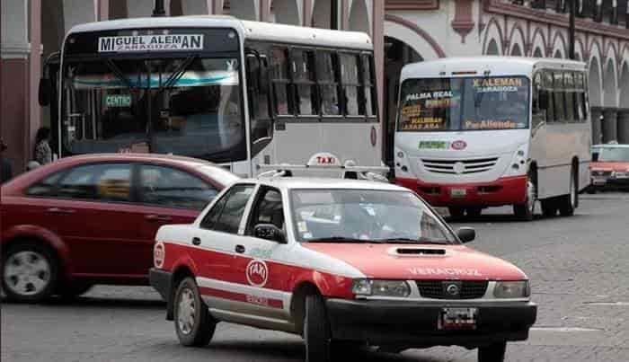
<instances>
[{"instance_id":1,"label":"red and white taxi with VERACRUZ on its hood","mask_svg":"<svg viewBox=\"0 0 629 362\"><path fill-rule=\"evenodd\" d=\"M459 345L502 361L536 321L527 276L463 243L416 194L375 181L237 181L192 225L165 225L151 285L179 340L217 322L303 336L306 361L337 346Z\"/></svg>"}]
</instances>

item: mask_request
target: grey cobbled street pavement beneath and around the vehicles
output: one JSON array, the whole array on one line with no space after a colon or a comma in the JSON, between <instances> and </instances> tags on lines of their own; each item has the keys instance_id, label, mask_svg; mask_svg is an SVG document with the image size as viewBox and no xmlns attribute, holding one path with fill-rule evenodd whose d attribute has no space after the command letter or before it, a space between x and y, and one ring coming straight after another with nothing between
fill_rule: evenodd
<instances>
[{"instance_id":1,"label":"grey cobbled street pavement beneath and around the vehicles","mask_svg":"<svg viewBox=\"0 0 629 362\"><path fill-rule=\"evenodd\" d=\"M518 222L510 207L483 210L470 245L514 262L539 305L508 361L629 360L629 194L581 195L572 217ZM9 361L301 361L288 334L221 323L207 348L179 345L150 287L95 287L70 305L2 305L1 358ZM356 361L475 361L476 351L439 347L401 354L358 352ZM349 362L349 361L348 361Z\"/></svg>"}]
</instances>

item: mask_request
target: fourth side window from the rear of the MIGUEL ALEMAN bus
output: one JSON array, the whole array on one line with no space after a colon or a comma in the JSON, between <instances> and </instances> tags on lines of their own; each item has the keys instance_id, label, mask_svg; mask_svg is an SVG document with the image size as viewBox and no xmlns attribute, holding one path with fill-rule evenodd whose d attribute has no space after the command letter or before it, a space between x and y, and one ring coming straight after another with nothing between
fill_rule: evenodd
<instances>
[{"instance_id":1,"label":"fourth side window from the rear of the MIGUEL ALEMAN bus","mask_svg":"<svg viewBox=\"0 0 629 362\"><path fill-rule=\"evenodd\" d=\"M316 84L314 83L314 52L293 49L293 83L297 114L310 116L318 114L316 105Z\"/></svg>"}]
</instances>

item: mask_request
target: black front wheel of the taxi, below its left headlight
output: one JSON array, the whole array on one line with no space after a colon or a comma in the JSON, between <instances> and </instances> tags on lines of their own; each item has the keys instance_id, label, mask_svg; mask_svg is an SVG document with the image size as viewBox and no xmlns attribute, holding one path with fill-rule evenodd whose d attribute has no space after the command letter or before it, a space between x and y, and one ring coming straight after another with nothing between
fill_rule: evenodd
<instances>
[{"instance_id":1,"label":"black front wheel of the taxi, below its left headlight","mask_svg":"<svg viewBox=\"0 0 629 362\"><path fill-rule=\"evenodd\" d=\"M304 316L304 342L306 362L329 362L331 345L330 322L325 311L323 297L306 296Z\"/></svg>"}]
</instances>

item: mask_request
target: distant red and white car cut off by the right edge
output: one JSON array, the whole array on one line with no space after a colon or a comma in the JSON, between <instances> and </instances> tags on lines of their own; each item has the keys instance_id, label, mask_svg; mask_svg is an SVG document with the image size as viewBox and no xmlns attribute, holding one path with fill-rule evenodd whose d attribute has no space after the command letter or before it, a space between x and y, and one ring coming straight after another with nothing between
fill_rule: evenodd
<instances>
[{"instance_id":1,"label":"distant red and white car cut off by the right edge","mask_svg":"<svg viewBox=\"0 0 629 362\"><path fill-rule=\"evenodd\" d=\"M588 192L629 189L629 145L592 146L591 184Z\"/></svg>"}]
</instances>

